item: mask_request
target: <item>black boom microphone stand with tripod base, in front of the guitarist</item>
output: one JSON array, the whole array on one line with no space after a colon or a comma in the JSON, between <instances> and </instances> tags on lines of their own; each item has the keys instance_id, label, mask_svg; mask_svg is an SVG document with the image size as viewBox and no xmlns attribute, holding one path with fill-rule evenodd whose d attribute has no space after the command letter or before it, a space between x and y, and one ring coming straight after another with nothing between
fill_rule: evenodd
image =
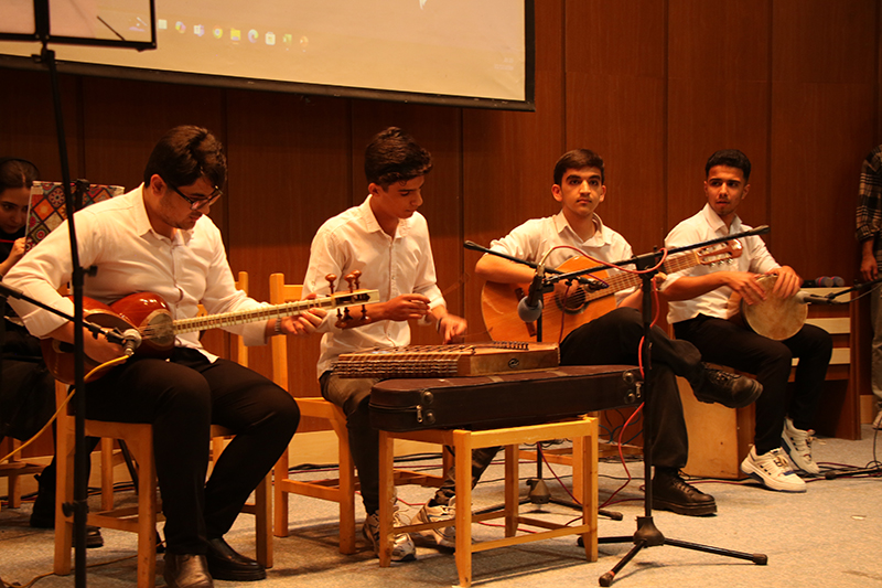
<instances>
[{"instance_id":1,"label":"black boom microphone stand with tripod base, in front of the guitarist","mask_svg":"<svg viewBox=\"0 0 882 588\"><path fill-rule=\"evenodd\" d=\"M668 254L675 254L691 249L708 247L718 243L746 237L751 235L760 235L768 232L768 227L763 225L752 231L738 233L735 235L728 235L725 237L710 239L703 243L687 245L670 249ZM615 580L615 575L631 562L637 553L644 547L655 547L659 545L671 545L674 547L681 547L685 549L692 549L697 552L704 552L709 554L723 555L736 559L746 559L756 565L764 566L768 563L768 557L764 554L749 554L744 552L735 552L732 549L724 549L721 547L713 547L710 545L702 545L699 543L690 543L680 539L671 539L665 537L658 527L655 526L653 521L653 445L655 442L655 419L653 418L652 403L653 398L653 367L652 367L652 344L649 343L649 329L652 327L653 317L653 278L658 274L658 265L660 254L652 253L616 261L614 266L633 265L641 271L641 290L642 290L642 306L641 316L643 318L643 349L641 351L641 361L644 368L643 389L644 389L644 443L643 443L643 466L644 466L644 515L637 517L637 531L633 535L614 536L614 537L600 537L598 544L602 543L634 543L634 546L625 554L624 557L613 568L603 574L599 578L601 586L612 586ZM553 280L567 279L569 276L580 276L582 274L590 274L605 269L606 266L598 266L585 270L573 271L570 275L555 276Z\"/></svg>"}]
</instances>

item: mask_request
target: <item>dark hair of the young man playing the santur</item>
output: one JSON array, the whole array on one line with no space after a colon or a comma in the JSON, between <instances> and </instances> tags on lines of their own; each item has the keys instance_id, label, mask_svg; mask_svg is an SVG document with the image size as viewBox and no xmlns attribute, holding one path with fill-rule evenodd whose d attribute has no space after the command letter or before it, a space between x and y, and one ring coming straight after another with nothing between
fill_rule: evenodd
<instances>
[{"instance_id":1,"label":"dark hair of the young man playing the santur","mask_svg":"<svg viewBox=\"0 0 882 588\"><path fill-rule=\"evenodd\" d=\"M431 170L432 154L398 127L378 132L365 149L367 181L384 190L395 182L426 175Z\"/></svg>"}]
</instances>

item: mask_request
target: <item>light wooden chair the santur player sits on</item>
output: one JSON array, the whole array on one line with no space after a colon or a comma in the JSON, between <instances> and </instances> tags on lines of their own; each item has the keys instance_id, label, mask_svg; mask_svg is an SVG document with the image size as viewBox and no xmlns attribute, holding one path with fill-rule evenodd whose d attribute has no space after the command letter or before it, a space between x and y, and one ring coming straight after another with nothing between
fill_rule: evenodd
<instances>
[{"instance_id":1,"label":"light wooden chair the santur player sits on","mask_svg":"<svg viewBox=\"0 0 882 588\"><path fill-rule=\"evenodd\" d=\"M269 278L269 301L271 304L297 301L301 299L303 287L284 284L284 274L272 274ZM286 336L273 336L272 346L272 381L289 393L288 379L288 340ZM355 466L349 452L349 436L346 430L346 416L333 403L321 397L297 396L301 417L313 417L327 421L337 438L337 463L340 464L337 478L324 480L301 481L293 480L289 474L288 450L282 453L275 469L275 502L276 517L273 527L277 537L288 536L288 494L300 494L321 500L329 500L340 504L340 553L355 553L355 491L358 480L355 477ZM448 460L444 461L444 471ZM398 484L421 484L439 487L443 475L431 475L407 470L395 470L395 481Z\"/></svg>"}]
</instances>

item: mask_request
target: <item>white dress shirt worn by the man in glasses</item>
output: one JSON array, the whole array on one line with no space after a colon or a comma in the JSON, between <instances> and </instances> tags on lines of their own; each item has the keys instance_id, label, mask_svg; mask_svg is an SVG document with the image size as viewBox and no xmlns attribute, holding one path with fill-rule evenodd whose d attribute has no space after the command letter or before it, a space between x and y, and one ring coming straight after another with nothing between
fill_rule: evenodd
<instances>
[{"instance_id":1,"label":"white dress shirt worn by the man in glasses","mask_svg":"<svg viewBox=\"0 0 882 588\"><path fill-rule=\"evenodd\" d=\"M85 277L85 296L110 304L133 292L153 292L168 303L175 320L195 317L200 303L209 314L266 306L236 289L220 232L211 218L203 215L192 229L164 237L150 225L142 189L143 184L75 214L79 263L97 268L95 276ZM73 272L67 231L67 222L53 231L24 255L4 282L73 314L73 301L57 292ZM43 338L65 323L29 302L10 302L35 336ZM244 335L246 344L257 345L266 343L265 328L266 321L260 320L227 330ZM176 335L175 345L202 350L198 332Z\"/></svg>"}]
</instances>

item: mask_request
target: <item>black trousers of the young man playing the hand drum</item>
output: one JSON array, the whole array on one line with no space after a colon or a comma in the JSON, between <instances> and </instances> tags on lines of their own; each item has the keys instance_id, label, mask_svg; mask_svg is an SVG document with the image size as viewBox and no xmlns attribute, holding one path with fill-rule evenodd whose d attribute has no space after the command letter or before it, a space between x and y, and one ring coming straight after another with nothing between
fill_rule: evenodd
<instances>
[{"instance_id":1,"label":"black trousers of the young man playing the hand drum","mask_svg":"<svg viewBox=\"0 0 882 588\"><path fill-rule=\"evenodd\" d=\"M755 374L763 385L756 400L757 455L781 447L785 417L789 416L796 428L813 427L832 353L827 331L806 324L790 339L774 341L733 322L699 314L675 323L674 332L695 343L706 361ZM796 392L788 400L787 378L794 357L799 359Z\"/></svg>"}]
</instances>

